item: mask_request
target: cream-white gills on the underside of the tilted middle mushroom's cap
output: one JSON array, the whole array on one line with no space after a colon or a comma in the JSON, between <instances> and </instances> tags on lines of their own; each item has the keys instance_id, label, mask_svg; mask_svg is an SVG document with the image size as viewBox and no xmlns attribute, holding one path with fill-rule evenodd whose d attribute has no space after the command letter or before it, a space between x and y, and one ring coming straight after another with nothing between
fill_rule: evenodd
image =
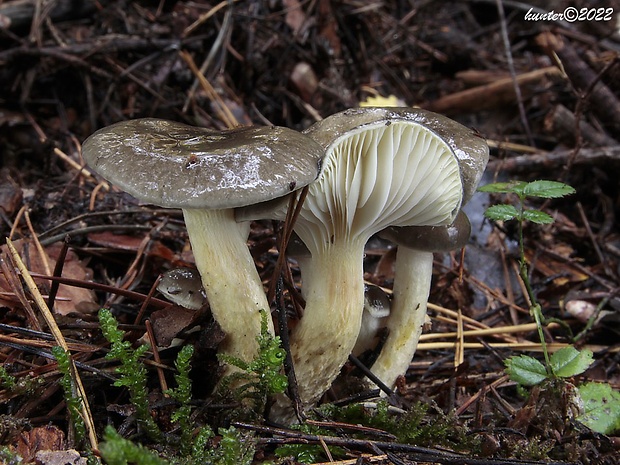
<instances>
[{"instance_id":1,"label":"cream-white gills on the underside of the tilted middle mushroom's cap","mask_svg":"<svg viewBox=\"0 0 620 465\"><path fill-rule=\"evenodd\" d=\"M295 226L311 250L338 237L367 240L388 226L452 223L463 186L458 159L441 137L403 119L341 133L330 118L307 131L326 147Z\"/></svg>"}]
</instances>

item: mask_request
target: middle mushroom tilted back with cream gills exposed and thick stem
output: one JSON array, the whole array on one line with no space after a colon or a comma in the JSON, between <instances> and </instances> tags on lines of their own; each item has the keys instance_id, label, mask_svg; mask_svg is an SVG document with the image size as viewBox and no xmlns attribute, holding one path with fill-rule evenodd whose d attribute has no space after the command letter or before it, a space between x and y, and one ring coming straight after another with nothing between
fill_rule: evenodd
<instances>
[{"instance_id":1,"label":"middle mushroom tilted back with cream gills exposed and thick stem","mask_svg":"<svg viewBox=\"0 0 620 465\"><path fill-rule=\"evenodd\" d=\"M311 252L306 307L291 331L300 399L316 403L351 353L364 308L367 240L388 226L448 225L463 197L458 155L427 125L441 118L409 108L346 110L305 134L325 149L294 229ZM454 123L456 124L456 123ZM290 418L276 399L275 419Z\"/></svg>"}]
</instances>

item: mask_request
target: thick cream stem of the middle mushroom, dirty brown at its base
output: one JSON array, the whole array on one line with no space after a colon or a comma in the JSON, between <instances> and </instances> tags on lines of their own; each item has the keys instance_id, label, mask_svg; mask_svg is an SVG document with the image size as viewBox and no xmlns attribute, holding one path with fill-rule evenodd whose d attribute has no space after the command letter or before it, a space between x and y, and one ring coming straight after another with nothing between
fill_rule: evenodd
<instances>
[{"instance_id":1,"label":"thick cream stem of the middle mushroom, dirty brown at its base","mask_svg":"<svg viewBox=\"0 0 620 465\"><path fill-rule=\"evenodd\" d=\"M329 389L357 340L364 306L363 256L363 241L343 238L304 263L306 308L290 340L305 407ZM287 399L278 399L278 407L286 411L287 405Z\"/></svg>"}]
</instances>

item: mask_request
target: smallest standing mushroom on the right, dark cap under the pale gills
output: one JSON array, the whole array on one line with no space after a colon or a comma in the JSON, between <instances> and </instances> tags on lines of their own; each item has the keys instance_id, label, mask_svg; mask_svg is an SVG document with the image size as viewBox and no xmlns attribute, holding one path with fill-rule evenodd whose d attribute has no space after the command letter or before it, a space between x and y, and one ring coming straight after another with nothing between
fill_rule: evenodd
<instances>
[{"instance_id":1,"label":"smallest standing mushroom on the right, dark cap under the pale gills","mask_svg":"<svg viewBox=\"0 0 620 465\"><path fill-rule=\"evenodd\" d=\"M387 228L379 233L398 245L387 338L372 373L386 386L406 373L418 346L426 318L426 305L433 273L433 252L447 252L465 246L471 224L462 211L448 226Z\"/></svg>"}]
</instances>

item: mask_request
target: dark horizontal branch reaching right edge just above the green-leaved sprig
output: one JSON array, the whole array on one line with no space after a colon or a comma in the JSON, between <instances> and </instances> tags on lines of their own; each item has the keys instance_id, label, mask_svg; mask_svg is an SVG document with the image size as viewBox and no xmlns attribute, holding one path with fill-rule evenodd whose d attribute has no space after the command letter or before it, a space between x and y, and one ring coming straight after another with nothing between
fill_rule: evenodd
<instances>
[{"instance_id":1,"label":"dark horizontal branch reaching right edge just above the green-leaved sprig","mask_svg":"<svg viewBox=\"0 0 620 465\"><path fill-rule=\"evenodd\" d=\"M509 173L532 173L540 170L562 168L573 156L573 150L561 150L534 155L520 155L502 160L491 160L488 169L501 169ZM620 146L581 149L572 161L573 165L620 164Z\"/></svg>"}]
</instances>

